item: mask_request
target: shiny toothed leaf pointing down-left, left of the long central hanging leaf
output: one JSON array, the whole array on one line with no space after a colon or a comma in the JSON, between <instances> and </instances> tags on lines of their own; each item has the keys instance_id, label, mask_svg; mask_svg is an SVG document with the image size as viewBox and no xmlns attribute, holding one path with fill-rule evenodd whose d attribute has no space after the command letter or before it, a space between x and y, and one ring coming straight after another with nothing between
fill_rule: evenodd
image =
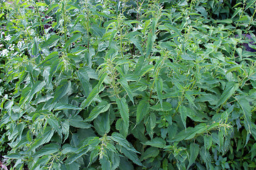
<instances>
[{"instance_id":1,"label":"shiny toothed leaf pointing down-left, left of the long central hanging leaf","mask_svg":"<svg viewBox=\"0 0 256 170\"><path fill-rule=\"evenodd\" d=\"M100 104L98 104L95 108L92 109L90 115L88 118L85 119L85 121L92 121L95 118L97 118L97 115L100 113L104 113L110 108L110 103L107 103L107 101L102 101Z\"/></svg>"}]
</instances>

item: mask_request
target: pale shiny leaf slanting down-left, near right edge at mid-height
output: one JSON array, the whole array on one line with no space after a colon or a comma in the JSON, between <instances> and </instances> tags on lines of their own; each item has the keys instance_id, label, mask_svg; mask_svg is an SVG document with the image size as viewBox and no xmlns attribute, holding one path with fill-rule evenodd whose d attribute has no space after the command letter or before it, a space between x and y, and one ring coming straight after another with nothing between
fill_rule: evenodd
<instances>
[{"instance_id":1,"label":"pale shiny leaf slanting down-left, near right edge at mid-height","mask_svg":"<svg viewBox=\"0 0 256 170\"><path fill-rule=\"evenodd\" d=\"M238 84L235 84L233 81L229 81L228 84L225 86L225 90L223 91L223 94L220 96L220 100L218 101L216 107L222 105L228 99L235 94L235 91L238 89Z\"/></svg>"}]
</instances>

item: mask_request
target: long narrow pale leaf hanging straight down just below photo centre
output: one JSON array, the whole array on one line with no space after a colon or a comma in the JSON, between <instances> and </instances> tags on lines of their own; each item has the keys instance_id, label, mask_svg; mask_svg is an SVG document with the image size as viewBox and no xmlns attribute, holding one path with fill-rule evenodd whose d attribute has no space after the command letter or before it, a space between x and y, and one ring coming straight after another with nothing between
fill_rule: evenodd
<instances>
[{"instance_id":1,"label":"long narrow pale leaf hanging straight down just below photo centre","mask_svg":"<svg viewBox=\"0 0 256 170\"><path fill-rule=\"evenodd\" d=\"M124 121L124 130L128 132L129 128L129 108L125 98L117 98L117 107L119 109L122 120Z\"/></svg>"}]
</instances>

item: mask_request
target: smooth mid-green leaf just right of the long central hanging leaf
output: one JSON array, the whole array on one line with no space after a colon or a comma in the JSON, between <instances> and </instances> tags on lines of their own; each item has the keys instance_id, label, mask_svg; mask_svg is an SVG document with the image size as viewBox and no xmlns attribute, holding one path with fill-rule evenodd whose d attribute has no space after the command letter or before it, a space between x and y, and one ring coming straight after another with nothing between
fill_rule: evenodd
<instances>
[{"instance_id":1,"label":"smooth mid-green leaf just right of the long central hanging leaf","mask_svg":"<svg viewBox=\"0 0 256 170\"><path fill-rule=\"evenodd\" d=\"M139 105L137 106L137 118L136 118L136 123L139 124L145 115L149 113L149 102L142 100L139 101Z\"/></svg>"}]
</instances>

